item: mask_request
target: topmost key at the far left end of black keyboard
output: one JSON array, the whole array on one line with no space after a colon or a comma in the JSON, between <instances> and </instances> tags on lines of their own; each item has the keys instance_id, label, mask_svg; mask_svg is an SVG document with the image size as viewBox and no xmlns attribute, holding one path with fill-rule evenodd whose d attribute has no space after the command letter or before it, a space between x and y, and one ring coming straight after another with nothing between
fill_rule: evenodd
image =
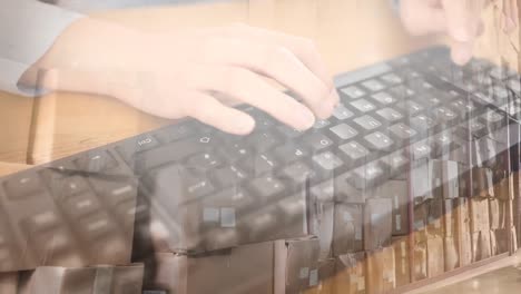
<instances>
[{"instance_id":1,"label":"topmost key at the far left end of black keyboard","mask_svg":"<svg viewBox=\"0 0 521 294\"><path fill-rule=\"evenodd\" d=\"M4 183L7 196L11 200L26 198L43 193L43 183L36 173L24 173L11 177Z\"/></svg>"}]
</instances>

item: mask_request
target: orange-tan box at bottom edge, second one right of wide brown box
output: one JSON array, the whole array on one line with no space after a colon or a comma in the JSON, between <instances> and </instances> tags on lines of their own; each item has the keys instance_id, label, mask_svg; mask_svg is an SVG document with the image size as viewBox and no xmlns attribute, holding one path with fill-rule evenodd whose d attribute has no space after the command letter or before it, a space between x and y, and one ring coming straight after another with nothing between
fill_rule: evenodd
<instances>
[{"instance_id":1,"label":"orange-tan box at bottom edge, second one right of wide brown box","mask_svg":"<svg viewBox=\"0 0 521 294\"><path fill-rule=\"evenodd\" d=\"M367 252L367 294L383 294L396 287L394 248Z\"/></svg>"}]
</instances>

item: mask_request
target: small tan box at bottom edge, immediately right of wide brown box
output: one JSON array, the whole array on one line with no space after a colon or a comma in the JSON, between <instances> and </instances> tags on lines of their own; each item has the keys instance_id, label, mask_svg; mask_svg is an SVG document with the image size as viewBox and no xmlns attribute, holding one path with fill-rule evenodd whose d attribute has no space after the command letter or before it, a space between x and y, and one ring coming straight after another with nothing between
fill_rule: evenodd
<instances>
[{"instance_id":1,"label":"small tan box at bottom edge, immediately right of wide brown box","mask_svg":"<svg viewBox=\"0 0 521 294\"><path fill-rule=\"evenodd\" d=\"M367 273L365 253L341 255L336 258L335 294L365 294Z\"/></svg>"}]
</instances>

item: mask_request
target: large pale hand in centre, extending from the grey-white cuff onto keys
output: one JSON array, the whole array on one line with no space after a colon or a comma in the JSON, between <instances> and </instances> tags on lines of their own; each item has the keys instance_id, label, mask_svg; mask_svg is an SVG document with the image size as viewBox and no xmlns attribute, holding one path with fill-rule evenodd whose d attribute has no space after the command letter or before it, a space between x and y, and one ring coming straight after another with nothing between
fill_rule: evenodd
<instances>
[{"instance_id":1,"label":"large pale hand in centre, extending from the grey-white cuff onto keys","mask_svg":"<svg viewBox=\"0 0 521 294\"><path fill-rule=\"evenodd\" d=\"M340 100L311 40L247 26L151 33L83 19L40 66L51 69L48 88L115 96L156 116L194 117L238 135L255 120L234 105L255 106L303 130L315 116L330 117Z\"/></svg>"}]
</instances>

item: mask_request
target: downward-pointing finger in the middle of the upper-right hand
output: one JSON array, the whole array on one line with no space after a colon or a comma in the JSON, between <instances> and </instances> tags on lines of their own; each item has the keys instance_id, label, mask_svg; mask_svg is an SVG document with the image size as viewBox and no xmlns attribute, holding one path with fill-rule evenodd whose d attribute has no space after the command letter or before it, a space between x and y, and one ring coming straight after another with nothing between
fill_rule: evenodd
<instances>
[{"instance_id":1,"label":"downward-pointing finger in the middle of the upper-right hand","mask_svg":"<svg viewBox=\"0 0 521 294\"><path fill-rule=\"evenodd\" d=\"M478 36L484 0L442 0L449 36L469 42Z\"/></svg>"}]
</instances>

